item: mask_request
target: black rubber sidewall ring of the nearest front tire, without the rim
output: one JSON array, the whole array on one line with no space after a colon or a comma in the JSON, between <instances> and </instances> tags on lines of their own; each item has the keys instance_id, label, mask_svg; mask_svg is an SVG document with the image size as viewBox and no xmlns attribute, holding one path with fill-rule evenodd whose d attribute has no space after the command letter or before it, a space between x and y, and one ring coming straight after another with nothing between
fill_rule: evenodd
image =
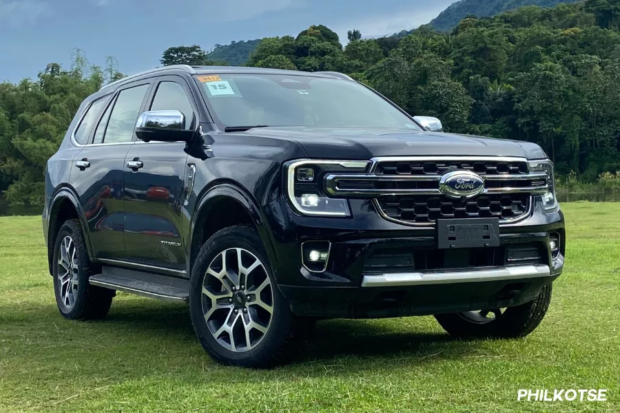
<instances>
[{"instance_id":1,"label":"black rubber sidewall ring of the nearest front tire, without the rim","mask_svg":"<svg viewBox=\"0 0 620 413\"><path fill-rule=\"evenodd\" d=\"M245 352L234 352L218 343L211 335L203 314L202 286L205 273L211 261L229 248L244 248L256 255L265 267L273 290L273 314L271 315L269 330L255 348ZM265 359L269 359L272 355L273 348L282 346L291 323L289 304L278 289L269 260L267 260L265 248L262 246L262 240L256 231L243 226L234 226L223 229L209 238L200 250L192 268L189 310L200 343L212 357L219 361L238 365L264 364Z\"/></svg>"}]
</instances>

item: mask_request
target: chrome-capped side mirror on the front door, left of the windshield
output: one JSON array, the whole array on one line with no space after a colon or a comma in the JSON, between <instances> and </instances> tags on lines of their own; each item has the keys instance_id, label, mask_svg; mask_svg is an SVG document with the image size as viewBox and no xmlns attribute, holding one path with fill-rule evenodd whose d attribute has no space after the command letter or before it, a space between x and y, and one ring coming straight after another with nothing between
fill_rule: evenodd
<instances>
[{"instance_id":1,"label":"chrome-capped side mirror on the front door, left of the windshield","mask_svg":"<svg viewBox=\"0 0 620 413\"><path fill-rule=\"evenodd\" d=\"M185 116L178 110L144 112L136 122L136 136L145 142L188 142L194 131L183 129Z\"/></svg>"}]
</instances>

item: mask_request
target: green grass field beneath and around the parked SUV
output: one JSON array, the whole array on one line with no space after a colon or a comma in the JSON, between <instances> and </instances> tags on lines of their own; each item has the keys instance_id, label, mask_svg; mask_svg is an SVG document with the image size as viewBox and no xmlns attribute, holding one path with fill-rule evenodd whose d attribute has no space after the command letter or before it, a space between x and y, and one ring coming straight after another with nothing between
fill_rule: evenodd
<instances>
[{"instance_id":1,"label":"green grass field beneath and around the parked SUV","mask_svg":"<svg viewBox=\"0 0 620 413\"><path fill-rule=\"evenodd\" d=\"M218 366L186 306L119 294L99 322L56 309L39 217L0 218L0 412L619 412L620 203L564 204L566 269L539 328L450 339L433 317L323 321L297 363ZM606 388L608 401L517 402Z\"/></svg>"}]
</instances>

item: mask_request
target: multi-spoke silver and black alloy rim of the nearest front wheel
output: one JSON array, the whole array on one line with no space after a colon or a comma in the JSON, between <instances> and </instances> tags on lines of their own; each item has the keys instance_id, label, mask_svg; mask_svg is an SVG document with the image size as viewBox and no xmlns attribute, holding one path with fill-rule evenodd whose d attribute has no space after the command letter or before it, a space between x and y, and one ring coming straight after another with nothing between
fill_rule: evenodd
<instances>
[{"instance_id":1,"label":"multi-spoke silver and black alloy rim of the nearest front wheel","mask_svg":"<svg viewBox=\"0 0 620 413\"><path fill-rule=\"evenodd\" d=\"M258 346L273 317L273 286L258 257L243 248L219 253L203 278L202 308L221 346L233 352Z\"/></svg>"}]
</instances>

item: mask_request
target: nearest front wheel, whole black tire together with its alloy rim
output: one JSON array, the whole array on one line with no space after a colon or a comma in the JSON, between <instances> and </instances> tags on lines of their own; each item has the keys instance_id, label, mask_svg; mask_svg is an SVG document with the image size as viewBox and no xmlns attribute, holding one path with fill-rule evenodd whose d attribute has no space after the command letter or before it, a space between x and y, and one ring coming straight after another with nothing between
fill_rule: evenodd
<instances>
[{"instance_id":1,"label":"nearest front wheel, whole black tire together with its alloy rim","mask_svg":"<svg viewBox=\"0 0 620 413\"><path fill-rule=\"evenodd\" d=\"M200 249L190 279L189 311L212 359L248 368L291 361L314 324L291 313L262 240L248 226L222 229Z\"/></svg>"}]
</instances>

